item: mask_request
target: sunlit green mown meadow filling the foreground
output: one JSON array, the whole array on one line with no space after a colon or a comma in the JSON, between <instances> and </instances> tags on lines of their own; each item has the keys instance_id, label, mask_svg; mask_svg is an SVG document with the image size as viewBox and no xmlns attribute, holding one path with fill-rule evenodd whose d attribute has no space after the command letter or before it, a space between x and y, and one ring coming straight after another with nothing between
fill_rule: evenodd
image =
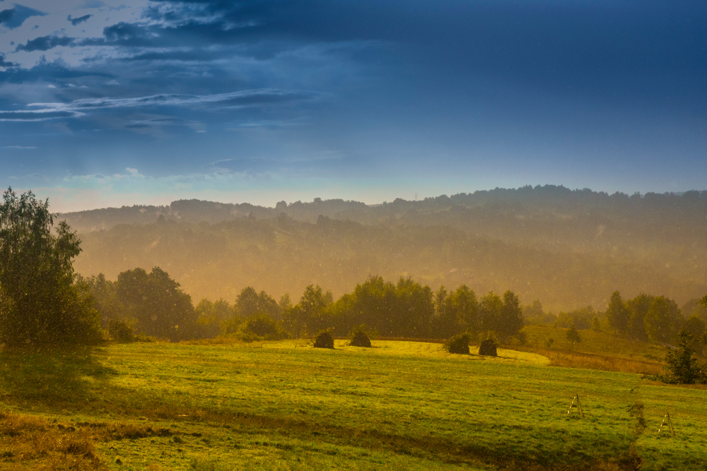
<instances>
[{"instance_id":1,"label":"sunlit green mown meadow filling the foreground","mask_svg":"<svg viewBox=\"0 0 707 471\"><path fill-rule=\"evenodd\" d=\"M0 470L707 469L701 388L532 352L310 345L3 352Z\"/></svg>"}]
</instances>

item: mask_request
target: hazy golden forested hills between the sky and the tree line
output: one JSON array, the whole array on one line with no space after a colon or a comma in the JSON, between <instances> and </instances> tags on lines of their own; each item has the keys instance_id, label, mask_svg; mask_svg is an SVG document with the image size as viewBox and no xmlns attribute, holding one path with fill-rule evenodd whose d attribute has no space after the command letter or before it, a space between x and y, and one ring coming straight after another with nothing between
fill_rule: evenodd
<instances>
[{"instance_id":1,"label":"hazy golden forested hills between the sky and the tree line","mask_svg":"<svg viewBox=\"0 0 707 471\"><path fill-rule=\"evenodd\" d=\"M380 205L175 201L60 218L83 239L78 273L160 266L195 299L232 300L245 286L298 294L311 283L339 296L368 275L513 290L554 311L604 309L614 290L681 304L707 293L707 191L525 186Z\"/></svg>"}]
</instances>

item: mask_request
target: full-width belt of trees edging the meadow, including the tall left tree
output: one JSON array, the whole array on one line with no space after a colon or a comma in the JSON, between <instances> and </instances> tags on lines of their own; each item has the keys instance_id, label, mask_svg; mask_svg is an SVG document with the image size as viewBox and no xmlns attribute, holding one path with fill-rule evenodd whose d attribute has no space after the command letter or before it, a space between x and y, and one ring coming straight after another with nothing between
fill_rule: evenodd
<instances>
[{"instance_id":1,"label":"full-width belt of trees edging the meadow, including the tall left tree","mask_svg":"<svg viewBox=\"0 0 707 471\"><path fill-rule=\"evenodd\" d=\"M139 333L173 341L301 337L322 329L343 336L361 325L387 337L441 339L468 333L522 341L524 309L510 290L479 298L466 285L433 291L409 277L393 283L369 276L337 300L319 285L308 285L294 305L287 294L276 302L267 292L246 287L233 305L202 299L194 307L180 284L158 267L149 273L125 270L115 281L102 274L82 278L72 264L81 240L66 222L54 228L48 208L48 201L37 201L30 191L17 196L11 189L0 204L0 342L6 346L100 342L101 324L114 338ZM707 297L701 306L707 309ZM544 316L539 302L525 311L536 319ZM600 328L596 314L588 308L566 318L593 316L592 328ZM703 343L707 339L705 319L685 320L664 296L639 294L624 302L614 292L603 318L615 333L636 340L668 343L681 329Z\"/></svg>"}]
</instances>

